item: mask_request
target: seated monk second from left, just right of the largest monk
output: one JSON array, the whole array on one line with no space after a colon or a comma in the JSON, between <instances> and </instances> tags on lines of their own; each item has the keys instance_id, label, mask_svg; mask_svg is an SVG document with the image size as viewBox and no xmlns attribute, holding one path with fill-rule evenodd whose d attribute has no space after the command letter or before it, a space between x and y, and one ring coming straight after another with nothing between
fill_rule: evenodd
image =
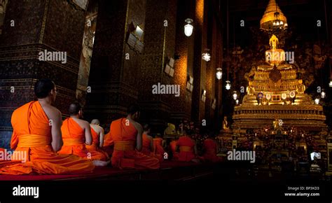
<instances>
[{"instance_id":1,"label":"seated monk second from left, just right of the largest monk","mask_svg":"<svg viewBox=\"0 0 332 203\"><path fill-rule=\"evenodd\" d=\"M97 151L88 151L85 145L92 144L92 135L90 123L80 118L83 116L83 111L80 104L73 103L69 106L70 118L67 118L62 123L61 132L64 144L60 154L78 155L81 158L88 160L100 160L99 166L106 166L109 162L103 153Z\"/></svg>"}]
</instances>

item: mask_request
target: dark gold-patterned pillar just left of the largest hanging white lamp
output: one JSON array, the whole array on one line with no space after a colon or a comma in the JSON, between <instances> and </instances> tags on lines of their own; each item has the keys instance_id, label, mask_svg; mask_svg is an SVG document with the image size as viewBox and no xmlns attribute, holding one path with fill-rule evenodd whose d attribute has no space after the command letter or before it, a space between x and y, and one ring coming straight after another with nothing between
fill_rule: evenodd
<instances>
[{"instance_id":1,"label":"dark gold-patterned pillar just left of the largest hanging white lamp","mask_svg":"<svg viewBox=\"0 0 332 203\"><path fill-rule=\"evenodd\" d=\"M139 90L139 104L142 107L141 121L149 123L153 132L163 132L171 123L174 100L184 97L183 84L174 62L174 74L167 73L174 59L177 31L177 1L146 1L146 31L144 35L144 61L141 65L140 80L144 81ZM172 65L172 64L171 64ZM153 94L153 85L180 85L180 95Z\"/></svg>"}]
</instances>

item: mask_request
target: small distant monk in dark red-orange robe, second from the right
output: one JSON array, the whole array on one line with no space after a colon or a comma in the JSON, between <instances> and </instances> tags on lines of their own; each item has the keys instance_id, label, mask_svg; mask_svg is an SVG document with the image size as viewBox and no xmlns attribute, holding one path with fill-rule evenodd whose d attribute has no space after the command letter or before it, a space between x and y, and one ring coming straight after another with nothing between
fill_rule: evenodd
<instances>
[{"instance_id":1,"label":"small distant monk in dark red-orange robe, second from the right","mask_svg":"<svg viewBox=\"0 0 332 203\"><path fill-rule=\"evenodd\" d=\"M200 162L196 142L185 133L177 141L177 151L179 151L179 161Z\"/></svg>"}]
</instances>

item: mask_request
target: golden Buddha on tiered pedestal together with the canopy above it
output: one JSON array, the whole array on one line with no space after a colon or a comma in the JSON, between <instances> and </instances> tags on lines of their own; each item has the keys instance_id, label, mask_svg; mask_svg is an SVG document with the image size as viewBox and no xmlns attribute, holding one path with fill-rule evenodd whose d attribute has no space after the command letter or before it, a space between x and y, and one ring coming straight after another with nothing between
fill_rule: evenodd
<instances>
[{"instance_id":1,"label":"golden Buddha on tiered pedestal together with the canopy above it","mask_svg":"<svg viewBox=\"0 0 332 203\"><path fill-rule=\"evenodd\" d=\"M270 27L275 22L273 13L276 7L275 0L270 0L261 20L261 29L271 31ZM286 18L279 8L277 10L280 13L279 20L286 24ZM239 138L244 137L247 130L253 129L265 129L265 133L274 135L285 134L282 129L288 127L307 129L310 132L327 129L323 107L314 104L312 97L305 93L308 84L304 84L297 74L305 73L305 68L301 69L293 64L294 52L278 48L279 42L281 44L282 38L272 34L270 40L266 41L266 45L270 47L265 52L266 58L253 63L251 70L244 74L244 78L248 80L247 92L242 97L242 104L234 107L232 117L232 128L240 129L233 134ZM223 128L228 128L225 121ZM269 130L270 128L272 129ZM223 139L229 140L230 145L232 141L229 139L229 133L223 130L221 134ZM238 142L243 141L244 139L239 139ZM263 144L269 144L269 141L263 141Z\"/></svg>"}]
</instances>

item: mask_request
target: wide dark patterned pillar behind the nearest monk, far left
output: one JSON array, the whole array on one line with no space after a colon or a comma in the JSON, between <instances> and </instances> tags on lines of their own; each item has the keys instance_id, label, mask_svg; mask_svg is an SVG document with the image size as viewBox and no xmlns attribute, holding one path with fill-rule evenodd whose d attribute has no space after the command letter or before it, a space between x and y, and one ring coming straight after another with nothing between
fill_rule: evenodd
<instances>
[{"instance_id":1,"label":"wide dark patterned pillar behind the nearest monk, far left","mask_svg":"<svg viewBox=\"0 0 332 203\"><path fill-rule=\"evenodd\" d=\"M55 106L67 115L67 106L75 99L81 45L77 33L83 34L83 16L83 10L62 1L8 2L0 35L0 147L9 148L11 114L35 99L34 83L39 78L55 81L59 90ZM39 52L45 49L66 51L67 63L39 61Z\"/></svg>"}]
</instances>

